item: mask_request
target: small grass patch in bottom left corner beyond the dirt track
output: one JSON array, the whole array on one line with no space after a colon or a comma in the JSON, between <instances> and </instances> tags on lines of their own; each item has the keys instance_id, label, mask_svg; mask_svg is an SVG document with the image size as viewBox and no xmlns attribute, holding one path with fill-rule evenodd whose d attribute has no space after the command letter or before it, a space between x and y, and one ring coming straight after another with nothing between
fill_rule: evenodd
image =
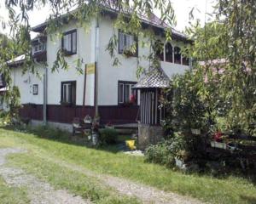
<instances>
[{"instance_id":1,"label":"small grass patch in bottom left corner beyond the dirt track","mask_svg":"<svg viewBox=\"0 0 256 204\"><path fill-rule=\"evenodd\" d=\"M26 204L29 200L26 196L26 190L9 187L0 177L0 203L1 204Z\"/></svg>"}]
</instances>

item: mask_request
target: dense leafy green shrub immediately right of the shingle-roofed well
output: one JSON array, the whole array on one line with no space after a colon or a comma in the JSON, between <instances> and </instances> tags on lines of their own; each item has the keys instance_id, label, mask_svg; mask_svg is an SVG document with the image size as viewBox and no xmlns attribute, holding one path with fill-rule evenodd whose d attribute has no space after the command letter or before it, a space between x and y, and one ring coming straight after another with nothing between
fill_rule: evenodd
<instances>
[{"instance_id":1,"label":"dense leafy green shrub immediately right of the shingle-roofed well","mask_svg":"<svg viewBox=\"0 0 256 204\"><path fill-rule=\"evenodd\" d=\"M204 129L206 126L207 106L198 97L198 77L194 72L186 71L184 75L172 79L172 88L166 90L166 129L189 133L191 128Z\"/></svg>"}]
</instances>

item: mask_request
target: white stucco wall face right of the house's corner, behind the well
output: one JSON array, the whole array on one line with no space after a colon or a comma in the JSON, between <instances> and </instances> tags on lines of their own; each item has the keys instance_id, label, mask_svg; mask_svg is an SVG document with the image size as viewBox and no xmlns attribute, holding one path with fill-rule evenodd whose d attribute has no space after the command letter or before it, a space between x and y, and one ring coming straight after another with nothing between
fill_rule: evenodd
<instances>
[{"instance_id":1,"label":"white stucco wall face right of the house's corner, behind the well","mask_svg":"<svg viewBox=\"0 0 256 204\"><path fill-rule=\"evenodd\" d=\"M98 101L99 105L118 105L118 81L131 81L137 82L137 58L130 57L125 58L121 54L117 54L121 65L113 66L113 59L106 51L109 39L113 36L113 33L118 35L118 31L113 29L113 21L109 18L100 20L100 58L98 63ZM149 54L149 48L142 48L140 39L138 43L138 56L147 56ZM173 45L177 45L177 42L172 42ZM117 51L118 52L118 51ZM143 58L140 59L140 66L148 69L149 62ZM163 70L168 77L172 77L174 74L182 74L189 68L187 65L177 65L169 62L161 62Z\"/></svg>"}]
</instances>

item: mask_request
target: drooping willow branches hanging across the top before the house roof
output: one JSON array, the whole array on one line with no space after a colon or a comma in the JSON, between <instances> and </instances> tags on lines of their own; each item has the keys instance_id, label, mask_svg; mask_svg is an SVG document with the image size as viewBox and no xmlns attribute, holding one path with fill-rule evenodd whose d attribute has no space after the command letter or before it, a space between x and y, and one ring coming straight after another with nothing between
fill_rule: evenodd
<instances>
[{"instance_id":1,"label":"drooping willow branches hanging across the top before the house roof","mask_svg":"<svg viewBox=\"0 0 256 204\"><path fill-rule=\"evenodd\" d=\"M30 51L30 47L27 46L30 44L30 37L27 36L30 31L28 13L34 8L49 6L51 9L52 12L49 14L49 20L46 28L51 39L58 39L62 37L62 26L71 21L74 21L77 26L83 26L85 30L88 30L91 20L95 19L96 21L99 21L99 16L102 14L102 10L104 8L111 8L117 11L113 18L113 26L116 30L121 29L126 33L131 33L135 37L140 37L142 39L142 45L148 44L149 47L151 46L151 42L154 42L155 35L154 31L151 29L151 25L148 25L148 31L143 28L142 25L145 18L150 20L152 18L152 14L154 14L154 10L157 9L160 11L159 14L161 22L166 23L169 26L175 25L176 23L172 3L166 0L53 0L49 2L44 0L32 0L20 1L19 3L8 0L5 2L5 6L9 10L9 26L12 31L10 36L15 37L15 35L18 34L17 38L21 39L20 42L25 45L22 48L24 51L22 53ZM107 46L107 50L113 58L113 64L115 65L119 65L116 41L117 35L118 33L114 31L113 37L109 39ZM146 38L147 40L143 40ZM166 40L171 40L170 27L166 28ZM134 43L131 48L129 48L129 51L134 54L136 52L136 46L136 43ZM153 55L149 55L146 56L146 58L152 59ZM79 60L83 61L82 59ZM66 62L65 55L60 49L57 53L55 63L53 67L51 67L52 71L56 71L59 68L67 69L68 67L69 65Z\"/></svg>"}]
</instances>

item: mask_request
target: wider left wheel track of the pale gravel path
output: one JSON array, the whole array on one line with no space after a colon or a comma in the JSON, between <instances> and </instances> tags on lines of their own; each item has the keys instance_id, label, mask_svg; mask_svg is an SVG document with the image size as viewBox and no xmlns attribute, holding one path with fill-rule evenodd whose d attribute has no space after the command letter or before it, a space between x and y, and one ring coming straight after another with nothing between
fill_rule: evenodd
<instances>
[{"instance_id":1,"label":"wider left wheel track of the pale gravel path","mask_svg":"<svg viewBox=\"0 0 256 204\"><path fill-rule=\"evenodd\" d=\"M32 204L88 204L82 197L75 196L67 190L55 190L50 184L25 173L23 170L5 167L5 157L12 153L21 153L20 149L0 149L0 175L5 182L15 187L26 187L28 198Z\"/></svg>"}]
</instances>

